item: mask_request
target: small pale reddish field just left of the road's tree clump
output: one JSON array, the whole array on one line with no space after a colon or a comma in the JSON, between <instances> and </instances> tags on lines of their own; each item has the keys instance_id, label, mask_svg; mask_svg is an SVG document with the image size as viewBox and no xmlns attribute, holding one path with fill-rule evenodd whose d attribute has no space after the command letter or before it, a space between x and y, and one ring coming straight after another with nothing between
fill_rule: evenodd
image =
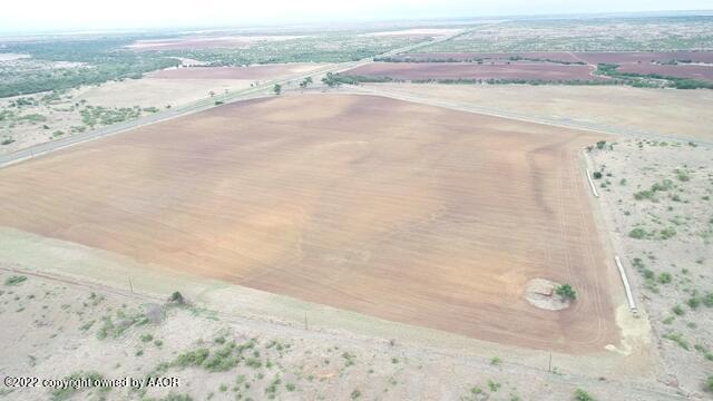
<instances>
[{"instance_id":1,"label":"small pale reddish field just left of the road's tree clump","mask_svg":"<svg viewBox=\"0 0 713 401\"><path fill-rule=\"evenodd\" d=\"M267 79L285 74L302 72L319 65L283 63L250 67L186 67L169 68L148 75L150 78L168 79Z\"/></svg>"}]
</instances>

